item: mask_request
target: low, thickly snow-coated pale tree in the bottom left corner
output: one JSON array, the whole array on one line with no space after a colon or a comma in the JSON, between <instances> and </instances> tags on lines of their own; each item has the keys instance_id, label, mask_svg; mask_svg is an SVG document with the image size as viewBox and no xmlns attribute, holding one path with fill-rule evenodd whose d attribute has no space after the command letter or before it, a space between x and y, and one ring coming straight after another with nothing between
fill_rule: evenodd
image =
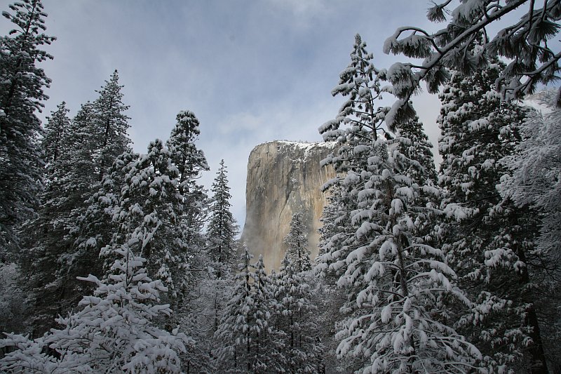
<instances>
[{"instance_id":1,"label":"low, thickly snow-coated pale tree in the bottom left corner","mask_svg":"<svg viewBox=\"0 0 561 374\"><path fill-rule=\"evenodd\" d=\"M143 258L128 244L115 251L117 260L107 279L90 275L83 281L97 288L79 303L79 312L60 317L64 328L36 340L7 334L0 346L9 353L0 359L3 373L180 373L178 354L189 342L154 326L154 319L170 314L158 305L161 281L152 281Z\"/></svg>"}]
</instances>

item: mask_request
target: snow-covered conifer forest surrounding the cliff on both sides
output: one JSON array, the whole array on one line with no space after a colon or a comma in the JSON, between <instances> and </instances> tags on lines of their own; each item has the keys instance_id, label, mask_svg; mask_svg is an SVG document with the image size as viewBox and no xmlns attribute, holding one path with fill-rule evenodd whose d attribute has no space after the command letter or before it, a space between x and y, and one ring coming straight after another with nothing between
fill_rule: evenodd
<instances>
[{"instance_id":1,"label":"snow-covered conifer forest surrounding the cliff on both sides","mask_svg":"<svg viewBox=\"0 0 561 374\"><path fill-rule=\"evenodd\" d=\"M295 213L278 272L238 239L228 160L200 184L191 110L134 152L115 70L41 123L55 37L41 0L11 4L0 372L561 373L561 3L537 3L435 2L444 27L400 27L388 68L356 34L318 129L337 143L319 255ZM438 167L423 89L441 103Z\"/></svg>"}]
</instances>

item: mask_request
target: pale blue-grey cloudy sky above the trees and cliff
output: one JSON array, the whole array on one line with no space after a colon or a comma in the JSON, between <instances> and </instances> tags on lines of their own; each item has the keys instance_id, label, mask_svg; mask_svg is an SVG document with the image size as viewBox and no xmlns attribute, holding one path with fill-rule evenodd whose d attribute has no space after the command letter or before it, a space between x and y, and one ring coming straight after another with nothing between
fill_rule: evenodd
<instances>
[{"instance_id":1,"label":"pale blue-grey cloudy sky above the trees and cliff","mask_svg":"<svg viewBox=\"0 0 561 374\"><path fill-rule=\"evenodd\" d=\"M0 0L1 10L13 1ZM427 26L423 0L43 0L47 34L58 38L43 63L53 80L41 118L63 100L76 114L97 98L114 69L130 105L137 152L166 140L183 109L201 121L198 147L211 171L229 171L232 204L245 220L250 151L269 140L321 141L318 126L344 101L332 98L339 72L361 34L374 65L389 67L386 37L404 25ZM435 26L428 25L432 29ZM2 34L11 27L0 21ZM389 103L388 103L389 104ZM433 142L438 98L414 100Z\"/></svg>"}]
</instances>

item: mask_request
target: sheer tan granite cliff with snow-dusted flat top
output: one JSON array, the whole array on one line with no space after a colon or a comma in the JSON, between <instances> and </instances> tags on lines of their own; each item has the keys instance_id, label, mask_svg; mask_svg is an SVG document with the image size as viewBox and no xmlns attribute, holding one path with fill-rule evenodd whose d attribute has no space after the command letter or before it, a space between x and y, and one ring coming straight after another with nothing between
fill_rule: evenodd
<instances>
[{"instance_id":1,"label":"sheer tan granite cliff with snow-dusted flat top","mask_svg":"<svg viewBox=\"0 0 561 374\"><path fill-rule=\"evenodd\" d=\"M303 213L311 258L318 254L326 202L321 187L335 175L331 166L320 166L320 161L333 149L334 143L274 141L257 145L250 153L241 239L254 255L264 255L269 269L278 269L284 258L283 239L293 213Z\"/></svg>"}]
</instances>

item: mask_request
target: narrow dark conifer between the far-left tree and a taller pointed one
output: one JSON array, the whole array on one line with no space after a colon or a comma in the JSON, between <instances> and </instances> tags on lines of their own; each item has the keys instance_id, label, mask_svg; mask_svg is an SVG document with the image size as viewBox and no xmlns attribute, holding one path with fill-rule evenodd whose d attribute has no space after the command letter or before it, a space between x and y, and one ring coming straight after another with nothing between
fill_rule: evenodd
<instances>
[{"instance_id":1,"label":"narrow dark conifer between the far-left tree and a taller pointed one","mask_svg":"<svg viewBox=\"0 0 561 374\"><path fill-rule=\"evenodd\" d=\"M36 218L22 226L22 244L25 255L20 263L25 276L22 288L31 294L29 301L33 307L30 325L34 335L42 335L53 326L55 316L76 305L80 295L69 292L65 270L60 269L59 258L69 252L72 243L65 238L69 215L76 204L72 199L73 186L69 184L66 173L74 166L67 162L67 153L74 147L69 142L71 123L65 102L51 112L45 126L41 142L41 153L46 167L43 170L44 189L39 194L41 204ZM59 277L62 276L62 277Z\"/></svg>"}]
</instances>

